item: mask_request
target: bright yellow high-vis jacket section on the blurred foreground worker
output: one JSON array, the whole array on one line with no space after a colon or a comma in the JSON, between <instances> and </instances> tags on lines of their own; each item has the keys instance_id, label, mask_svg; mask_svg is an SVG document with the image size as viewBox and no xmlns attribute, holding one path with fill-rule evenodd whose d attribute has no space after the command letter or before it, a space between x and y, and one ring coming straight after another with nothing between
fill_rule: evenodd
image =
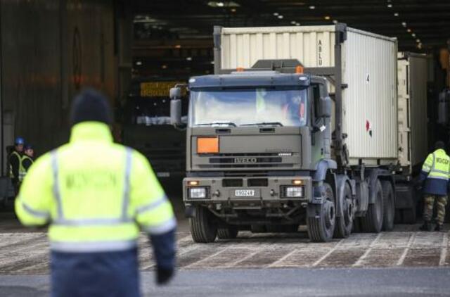
<instances>
[{"instance_id":1,"label":"bright yellow high-vis jacket section on the blurred foreground worker","mask_svg":"<svg viewBox=\"0 0 450 297\"><path fill-rule=\"evenodd\" d=\"M113 143L108 125L81 122L70 142L39 158L23 180L15 212L24 225L49 224L52 251L125 251L139 229L176 227L148 160Z\"/></svg>"}]
</instances>

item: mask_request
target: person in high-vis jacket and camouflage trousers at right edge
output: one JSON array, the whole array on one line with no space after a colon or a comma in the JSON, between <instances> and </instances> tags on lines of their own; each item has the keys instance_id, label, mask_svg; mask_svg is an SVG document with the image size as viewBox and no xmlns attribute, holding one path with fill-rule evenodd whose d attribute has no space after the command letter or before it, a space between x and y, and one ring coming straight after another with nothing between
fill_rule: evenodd
<instances>
[{"instance_id":1,"label":"person in high-vis jacket and camouflage trousers at right edge","mask_svg":"<svg viewBox=\"0 0 450 297\"><path fill-rule=\"evenodd\" d=\"M423 186L424 210L422 227L423 231L431 231L431 219L435 200L437 204L437 217L435 231L442 230L445 218L445 206L447 203L447 191L449 189L450 178L450 157L444 151L444 142L437 141L435 151L428 155L420 172L420 184L425 181Z\"/></svg>"}]
</instances>

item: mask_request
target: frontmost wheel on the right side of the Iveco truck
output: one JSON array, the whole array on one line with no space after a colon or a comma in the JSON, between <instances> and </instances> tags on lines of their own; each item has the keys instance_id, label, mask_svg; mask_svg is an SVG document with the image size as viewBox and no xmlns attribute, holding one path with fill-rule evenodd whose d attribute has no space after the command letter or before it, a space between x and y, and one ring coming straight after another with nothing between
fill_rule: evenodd
<instances>
[{"instance_id":1,"label":"frontmost wheel on the right side of the Iveco truck","mask_svg":"<svg viewBox=\"0 0 450 297\"><path fill-rule=\"evenodd\" d=\"M307 228L309 239L314 242L326 242L333 238L335 231L335 197L329 184L323 184L323 203L309 206ZM319 210L319 211L318 211Z\"/></svg>"}]
</instances>

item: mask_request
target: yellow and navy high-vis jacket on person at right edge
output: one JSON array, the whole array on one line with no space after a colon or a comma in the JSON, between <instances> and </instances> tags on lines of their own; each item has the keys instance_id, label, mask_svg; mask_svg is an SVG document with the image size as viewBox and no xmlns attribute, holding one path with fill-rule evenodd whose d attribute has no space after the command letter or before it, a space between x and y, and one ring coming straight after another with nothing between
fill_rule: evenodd
<instances>
[{"instance_id":1,"label":"yellow and navy high-vis jacket on person at right edge","mask_svg":"<svg viewBox=\"0 0 450 297\"><path fill-rule=\"evenodd\" d=\"M420 179L425 179L423 193L446 195L450 179L450 157L443 149L428 155L422 166Z\"/></svg>"}]
</instances>

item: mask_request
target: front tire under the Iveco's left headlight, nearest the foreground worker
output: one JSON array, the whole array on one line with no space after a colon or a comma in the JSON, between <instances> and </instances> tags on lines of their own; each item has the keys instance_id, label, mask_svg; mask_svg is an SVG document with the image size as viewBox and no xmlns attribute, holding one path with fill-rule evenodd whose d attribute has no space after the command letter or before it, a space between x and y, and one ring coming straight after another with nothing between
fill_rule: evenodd
<instances>
[{"instance_id":1,"label":"front tire under the Iveco's left headlight, nearest the foreground worker","mask_svg":"<svg viewBox=\"0 0 450 297\"><path fill-rule=\"evenodd\" d=\"M217 225L212 222L210 210L202 206L195 207L195 217L189 219L192 239L198 243L214 242L217 236Z\"/></svg>"}]
</instances>

